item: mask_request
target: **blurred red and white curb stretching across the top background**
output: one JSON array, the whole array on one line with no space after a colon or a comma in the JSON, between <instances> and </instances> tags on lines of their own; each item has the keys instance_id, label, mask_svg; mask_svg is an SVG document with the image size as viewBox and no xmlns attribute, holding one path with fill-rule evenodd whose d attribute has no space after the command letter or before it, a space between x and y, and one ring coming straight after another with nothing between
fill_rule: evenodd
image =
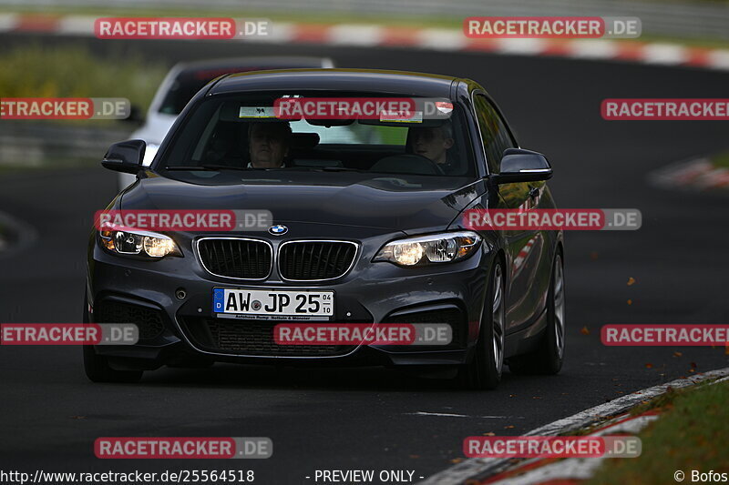
<instances>
[{"instance_id":1,"label":"blurred red and white curb stretching across the top background","mask_svg":"<svg viewBox=\"0 0 729 485\"><path fill-rule=\"evenodd\" d=\"M91 15L0 14L0 33L94 36ZM271 35L238 39L273 44L387 46L512 56L560 56L729 70L729 49L609 39L471 39L458 29L274 22Z\"/></svg>"}]
</instances>

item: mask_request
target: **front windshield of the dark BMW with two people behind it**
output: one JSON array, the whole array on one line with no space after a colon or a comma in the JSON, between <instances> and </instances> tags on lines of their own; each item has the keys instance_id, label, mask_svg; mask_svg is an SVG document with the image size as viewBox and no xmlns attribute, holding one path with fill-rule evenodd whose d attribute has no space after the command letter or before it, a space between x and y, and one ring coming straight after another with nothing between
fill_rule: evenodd
<instances>
[{"instance_id":1,"label":"front windshield of the dark BMW with two people behind it","mask_svg":"<svg viewBox=\"0 0 729 485\"><path fill-rule=\"evenodd\" d=\"M256 93L208 98L195 106L173 135L157 168L366 171L436 177L476 174L464 115L458 106L438 102L439 107L447 107L427 116L426 109L418 110L430 98L362 93L327 96L321 92L315 96ZM376 111L377 107L366 116L356 110L345 113L338 105L337 113L344 115L326 119L323 111L319 116L314 112L276 111L282 100L314 103L323 99L345 100L350 108L362 100L380 100L380 105L373 106L396 106L395 100L408 99L414 100L412 106L421 107L406 115L399 112L400 116Z\"/></svg>"}]
</instances>

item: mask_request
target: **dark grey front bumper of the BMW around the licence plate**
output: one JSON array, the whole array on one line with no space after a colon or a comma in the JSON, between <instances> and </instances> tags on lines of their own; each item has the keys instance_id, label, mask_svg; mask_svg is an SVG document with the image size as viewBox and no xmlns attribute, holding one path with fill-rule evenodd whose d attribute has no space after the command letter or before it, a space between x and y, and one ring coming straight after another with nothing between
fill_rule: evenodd
<instances>
[{"instance_id":1,"label":"dark grey front bumper of the BMW around the licence plate","mask_svg":"<svg viewBox=\"0 0 729 485\"><path fill-rule=\"evenodd\" d=\"M346 231L344 231L346 232ZM201 237L209 237L204 235ZM227 236L231 236L228 234ZM347 237L350 236L350 237ZM399 268L372 263L385 242L401 237L383 233L366 239L338 233L361 243L354 267L331 281L306 284L282 281L275 265L264 281L248 282L210 275L194 251L199 237L181 238L184 258L145 261L109 254L94 237L89 246L87 298L89 321L122 321L140 326L134 346L99 346L96 351L116 367L157 369L187 361L275 363L278 365L457 365L468 359L476 342L483 309L491 254L488 245L472 257L453 264ZM261 237L265 238L265 237ZM267 239L274 245L283 240ZM274 251L275 254L275 251ZM265 338L260 320L217 318L212 311L213 288L331 289L335 323L449 323L453 342L447 347L349 346L295 349L271 346L252 349L221 348L221 332L246 338ZM178 298L180 289L185 298ZM441 321L447 319L449 321ZM269 332L270 332L269 328ZM255 347L255 346L253 346Z\"/></svg>"}]
</instances>

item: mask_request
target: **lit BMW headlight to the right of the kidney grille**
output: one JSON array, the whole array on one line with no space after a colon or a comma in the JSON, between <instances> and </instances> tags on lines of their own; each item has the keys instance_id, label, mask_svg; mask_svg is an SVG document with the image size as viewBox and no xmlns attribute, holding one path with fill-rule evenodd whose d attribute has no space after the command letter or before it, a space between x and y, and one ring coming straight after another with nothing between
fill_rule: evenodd
<instances>
[{"instance_id":1,"label":"lit BMW headlight to the right of the kidney grille","mask_svg":"<svg viewBox=\"0 0 729 485\"><path fill-rule=\"evenodd\" d=\"M400 266L450 263L473 254L480 242L481 237L472 231L408 237L385 244L373 261L389 261Z\"/></svg>"}]
</instances>

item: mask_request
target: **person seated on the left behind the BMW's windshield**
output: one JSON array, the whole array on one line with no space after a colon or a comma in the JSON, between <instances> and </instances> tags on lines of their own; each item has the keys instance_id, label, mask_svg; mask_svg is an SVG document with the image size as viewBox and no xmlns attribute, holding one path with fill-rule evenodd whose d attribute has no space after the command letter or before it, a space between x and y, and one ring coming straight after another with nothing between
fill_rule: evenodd
<instances>
[{"instance_id":1,"label":"person seated on the left behind the BMW's windshield","mask_svg":"<svg viewBox=\"0 0 729 485\"><path fill-rule=\"evenodd\" d=\"M292 131L288 122L252 123L248 127L249 168L282 168Z\"/></svg>"}]
</instances>

